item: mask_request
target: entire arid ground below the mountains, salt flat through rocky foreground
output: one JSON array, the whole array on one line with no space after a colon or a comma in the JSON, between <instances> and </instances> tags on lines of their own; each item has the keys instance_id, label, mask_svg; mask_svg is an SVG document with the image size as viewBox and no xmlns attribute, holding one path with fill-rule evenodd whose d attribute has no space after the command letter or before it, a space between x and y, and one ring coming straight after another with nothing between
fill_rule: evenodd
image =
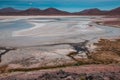
<instances>
[{"instance_id":1,"label":"entire arid ground below the mountains, salt flat through rocky foreground","mask_svg":"<svg viewBox=\"0 0 120 80\"><path fill-rule=\"evenodd\" d=\"M2 16L0 23L32 25L1 28L0 80L120 80L117 17Z\"/></svg>"}]
</instances>

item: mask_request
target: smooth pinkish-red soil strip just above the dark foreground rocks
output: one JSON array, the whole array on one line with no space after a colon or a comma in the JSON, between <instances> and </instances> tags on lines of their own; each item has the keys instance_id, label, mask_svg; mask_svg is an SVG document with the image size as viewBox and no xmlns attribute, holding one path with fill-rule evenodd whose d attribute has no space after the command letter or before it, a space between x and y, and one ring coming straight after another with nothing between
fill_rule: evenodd
<instances>
[{"instance_id":1,"label":"smooth pinkish-red soil strip just above the dark foreground rocks","mask_svg":"<svg viewBox=\"0 0 120 80\"><path fill-rule=\"evenodd\" d=\"M46 77L46 74L51 75L51 73L59 72L59 70L63 70L70 74L74 73L77 75L80 75L80 74L94 75L97 73L102 73L101 75L105 73L107 75L107 74L111 74L111 72L118 74L120 72L120 66L119 65L84 65L84 66L66 67L66 68L59 68L59 69L41 70L41 71L34 71L34 72L24 72L24 73L18 72L16 74L13 74L13 73L9 74L11 76L9 75L7 75L7 77L3 76L0 78L0 80L13 80L13 79L14 80L15 79L16 80L17 79L19 80L28 80L28 79L35 80L36 79L37 80L38 77L42 77L43 75ZM38 79L38 80L41 80L41 79ZM42 80L48 80L48 79L42 79ZM49 79L49 80L52 80L52 79ZM57 80L57 79L54 79L54 80ZM61 79L61 80L64 80L64 79ZM73 80L73 79L70 79L70 80Z\"/></svg>"}]
</instances>

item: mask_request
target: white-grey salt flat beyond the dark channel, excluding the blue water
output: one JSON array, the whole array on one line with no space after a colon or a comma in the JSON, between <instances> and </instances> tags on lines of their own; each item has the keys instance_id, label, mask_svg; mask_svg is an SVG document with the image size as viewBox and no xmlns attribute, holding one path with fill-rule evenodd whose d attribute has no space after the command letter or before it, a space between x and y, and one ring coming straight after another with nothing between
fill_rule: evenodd
<instances>
[{"instance_id":1,"label":"white-grey salt flat beyond the dark channel, excluding the blue water","mask_svg":"<svg viewBox=\"0 0 120 80\"><path fill-rule=\"evenodd\" d=\"M100 26L93 21L101 20L101 16L9 16L1 17L0 22L22 24L20 21L27 22L21 27L11 31L10 36L4 36L5 31L0 35L0 45L2 46L35 46L51 43L80 42L83 40L95 40L102 37L116 37L120 35L119 28ZM6 20L7 19L7 20ZM17 26L16 25L16 28ZM9 25L8 25L9 26ZM2 26L0 26L1 28ZM20 26L19 26L20 27ZM9 28L9 27L8 27ZM9 34L9 33L8 33Z\"/></svg>"}]
</instances>

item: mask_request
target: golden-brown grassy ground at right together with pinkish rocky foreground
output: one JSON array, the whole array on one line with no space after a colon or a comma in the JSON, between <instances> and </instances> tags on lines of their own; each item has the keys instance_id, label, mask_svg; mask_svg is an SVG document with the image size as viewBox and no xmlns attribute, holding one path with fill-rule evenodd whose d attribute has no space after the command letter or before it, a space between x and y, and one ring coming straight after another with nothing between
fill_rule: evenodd
<instances>
[{"instance_id":1,"label":"golden-brown grassy ground at right together with pinkish rocky foreground","mask_svg":"<svg viewBox=\"0 0 120 80\"><path fill-rule=\"evenodd\" d=\"M76 62L72 65L47 67L36 69L37 71L35 69L9 70L6 68L4 70L8 71L1 75L0 80L119 80L120 39L111 41L101 39L94 45L98 47L94 53L90 53L90 59L75 58ZM9 73L10 71L12 73Z\"/></svg>"}]
</instances>

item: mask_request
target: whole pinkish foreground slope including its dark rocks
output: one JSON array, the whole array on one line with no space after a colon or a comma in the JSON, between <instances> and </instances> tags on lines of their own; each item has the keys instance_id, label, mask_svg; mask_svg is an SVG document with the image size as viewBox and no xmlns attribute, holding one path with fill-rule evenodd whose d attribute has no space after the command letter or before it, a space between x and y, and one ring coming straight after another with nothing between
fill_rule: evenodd
<instances>
[{"instance_id":1,"label":"whole pinkish foreground slope including its dark rocks","mask_svg":"<svg viewBox=\"0 0 120 80\"><path fill-rule=\"evenodd\" d=\"M0 80L120 80L119 65L84 65L1 75Z\"/></svg>"}]
</instances>

